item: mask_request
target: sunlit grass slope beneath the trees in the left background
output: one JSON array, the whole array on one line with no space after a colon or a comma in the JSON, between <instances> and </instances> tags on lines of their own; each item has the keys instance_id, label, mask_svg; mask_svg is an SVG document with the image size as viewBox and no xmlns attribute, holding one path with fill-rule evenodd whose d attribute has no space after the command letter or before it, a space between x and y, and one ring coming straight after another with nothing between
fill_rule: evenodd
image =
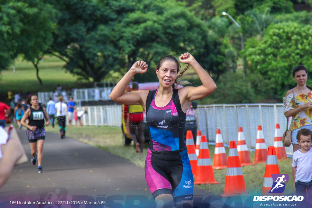
<instances>
[{"instance_id":1,"label":"sunlit grass slope beneath the trees in the left background","mask_svg":"<svg viewBox=\"0 0 312 208\"><path fill-rule=\"evenodd\" d=\"M13 92L20 89L22 94L27 91L31 93L54 91L57 84L60 84L63 89L93 86L90 82L78 82L76 76L63 69L64 65L65 62L54 56L45 56L38 65L39 77L43 83L40 85L32 63L18 58L15 61L15 73L13 73L13 66L1 71L0 95L2 98L6 98L9 89Z\"/></svg>"}]
</instances>

